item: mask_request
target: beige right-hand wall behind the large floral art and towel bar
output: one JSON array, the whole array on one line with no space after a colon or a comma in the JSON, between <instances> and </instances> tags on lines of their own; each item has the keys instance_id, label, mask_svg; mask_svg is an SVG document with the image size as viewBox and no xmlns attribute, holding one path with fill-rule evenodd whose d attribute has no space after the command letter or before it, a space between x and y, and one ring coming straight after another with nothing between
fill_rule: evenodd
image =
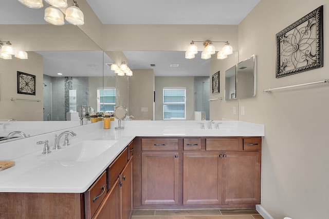
<instances>
[{"instance_id":1,"label":"beige right-hand wall behind the large floral art and towel bar","mask_svg":"<svg viewBox=\"0 0 329 219\"><path fill-rule=\"evenodd\" d=\"M276 78L276 34L321 5L324 67ZM276 219L328 218L328 85L262 92L328 78L328 10L327 0L262 0L239 25L240 61L257 56L257 95L240 100L239 120L265 125L262 206Z\"/></svg>"}]
</instances>

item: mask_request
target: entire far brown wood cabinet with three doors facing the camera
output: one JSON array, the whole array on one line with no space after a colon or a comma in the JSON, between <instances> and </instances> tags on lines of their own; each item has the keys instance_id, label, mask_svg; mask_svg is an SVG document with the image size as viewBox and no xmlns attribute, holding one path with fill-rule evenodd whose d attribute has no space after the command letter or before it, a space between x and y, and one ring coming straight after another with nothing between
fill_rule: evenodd
<instances>
[{"instance_id":1,"label":"entire far brown wood cabinet with three doors facing the camera","mask_svg":"<svg viewBox=\"0 0 329 219\"><path fill-rule=\"evenodd\" d=\"M167 150L166 140L135 138L134 208L260 204L261 137L177 137Z\"/></svg>"}]
</instances>

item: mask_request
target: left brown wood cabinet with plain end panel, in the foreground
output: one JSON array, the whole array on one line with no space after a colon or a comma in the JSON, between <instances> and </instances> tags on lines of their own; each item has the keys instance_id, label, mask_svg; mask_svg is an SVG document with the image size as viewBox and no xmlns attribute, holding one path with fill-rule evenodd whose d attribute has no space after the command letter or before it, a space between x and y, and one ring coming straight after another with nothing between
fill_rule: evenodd
<instances>
[{"instance_id":1,"label":"left brown wood cabinet with plain end panel, in the foreground","mask_svg":"<svg viewBox=\"0 0 329 219\"><path fill-rule=\"evenodd\" d=\"M131 142L84 193L0 192L0 218L131 218L133 151Z\"/></svg>"}]
</instances>

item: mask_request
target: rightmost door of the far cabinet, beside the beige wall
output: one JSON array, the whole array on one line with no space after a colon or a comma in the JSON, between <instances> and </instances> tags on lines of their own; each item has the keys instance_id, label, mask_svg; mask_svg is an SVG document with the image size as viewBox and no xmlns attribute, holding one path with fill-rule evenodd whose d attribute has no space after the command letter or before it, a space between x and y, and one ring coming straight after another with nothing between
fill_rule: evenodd
<instances>
[{"instance_id":1,"label":"rightmost door of the far cabinet, beside the beige wall","mask_svg":"<svg viewBox=\"0 0 329 219\"><path fill-rule=\"evenodd\" d=\"M223 203L259 204L261 152L223 153Z\"/></svg>"}]
</instances>

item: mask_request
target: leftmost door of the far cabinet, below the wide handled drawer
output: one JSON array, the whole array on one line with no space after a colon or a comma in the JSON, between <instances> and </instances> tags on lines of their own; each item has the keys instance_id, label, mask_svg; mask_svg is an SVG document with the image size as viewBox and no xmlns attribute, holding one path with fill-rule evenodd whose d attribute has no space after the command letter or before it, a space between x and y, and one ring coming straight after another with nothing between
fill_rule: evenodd
<instances>
[{"instance_id":1,"label":"leftmost door of the far cabinet, below the wide handled drawer","mask_svg":"<svg viewBox=\"0 0 329 219\"><path fill-rule=\"evenodd\" d=\"M178 204L178 152L142 153L142 205Z\"/></svg>"}]
</instances>

